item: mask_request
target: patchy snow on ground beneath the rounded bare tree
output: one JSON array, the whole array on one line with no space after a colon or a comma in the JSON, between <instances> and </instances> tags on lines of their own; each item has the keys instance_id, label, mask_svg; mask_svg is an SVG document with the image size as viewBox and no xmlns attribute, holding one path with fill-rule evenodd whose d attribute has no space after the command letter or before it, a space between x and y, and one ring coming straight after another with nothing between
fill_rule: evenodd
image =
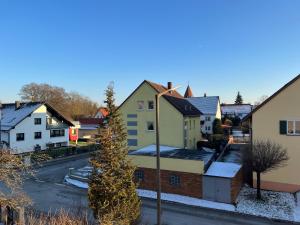
<instances>
[{"instance_id":1,"label":"patchy snow on ground beneath the rounded bare tree","mask_svg":"<svg viewBox=\"0 0 300 225\"><path fill-rule=\"evenodd\" d=\"M237 212L273 219L294 220L295 198L290 193L262 191L256 200L256 189L244 187L237 199Z\"/></svg>"}]
</instances>

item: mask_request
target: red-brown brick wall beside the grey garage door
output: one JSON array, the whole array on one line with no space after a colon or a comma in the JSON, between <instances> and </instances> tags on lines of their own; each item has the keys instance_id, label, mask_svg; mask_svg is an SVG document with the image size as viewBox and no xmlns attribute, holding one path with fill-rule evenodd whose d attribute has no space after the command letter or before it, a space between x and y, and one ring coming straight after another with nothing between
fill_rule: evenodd
<instances>
[{"instance_id":1,"label":"red-brown brick wall beside the grey garage door","mask_svg":"<svg viewBox=\"0 0 300 225\"><path fill-rule=\"evenodd\" d=\"M144 172L144 180L139 182L139 188L156 191L156 170L148 168L138 168L137 170ZM172 175L180 177L179 186L170 184ZM165 193L202 198L202 175L161 170L161 189Z\"/></svg>"}]
</instances>

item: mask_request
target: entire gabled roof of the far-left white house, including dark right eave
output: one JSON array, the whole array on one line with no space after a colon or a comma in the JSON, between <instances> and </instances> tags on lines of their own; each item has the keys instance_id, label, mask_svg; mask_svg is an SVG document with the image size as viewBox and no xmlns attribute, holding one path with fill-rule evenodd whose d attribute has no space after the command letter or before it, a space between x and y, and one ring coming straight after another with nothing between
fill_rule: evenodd
<instances>
[{"instance_id":1,"label":"entire gabled roof of the far-left white house, including dark right eave","mask_svg":"<svg viewBox=\"0 0 300 225\"><path fill-rule=\"evenodd\" d=\"M15 103L2 104L1 112L1 130L8 131L13 129L16 125L21 123L25 118L30 116L35 110L42 105L46 105L47 110L55 114L57 118L62 119L65 123L72 126L73 124L62 116L52 106L43 102L28 102L21 103L18 109L15 108Z\"/></svg>"}]
</instances>

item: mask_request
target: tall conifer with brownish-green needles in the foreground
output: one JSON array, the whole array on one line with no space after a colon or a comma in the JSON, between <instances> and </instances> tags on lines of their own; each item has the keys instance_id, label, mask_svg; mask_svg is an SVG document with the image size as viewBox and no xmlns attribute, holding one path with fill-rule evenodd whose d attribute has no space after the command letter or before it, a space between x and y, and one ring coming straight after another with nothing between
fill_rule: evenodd
<instances>
[{"instance_id":1,"label":"tall conifer with brownish-green needles in the foreground","mask_svg":"<svg viewBox=\"0 0 300 225\"><path fill-rule=\"evenodd\" d=\"M114 99L113 86L106 90L107 126L100 134L101 150L90 160L89 204L103 225L129 225L140 216L140 200L134 183L135 167L127 158L127 134Z\"/></svg>"}]
</instances>

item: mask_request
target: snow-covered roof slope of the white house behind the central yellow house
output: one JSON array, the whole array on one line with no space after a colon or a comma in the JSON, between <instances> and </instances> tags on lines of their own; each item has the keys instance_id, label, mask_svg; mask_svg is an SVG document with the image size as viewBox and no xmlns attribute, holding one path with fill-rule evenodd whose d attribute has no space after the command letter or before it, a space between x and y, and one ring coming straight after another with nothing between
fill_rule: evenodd
<instances>
[{"instance_id":1,"label":"snow-covered roof slope of the white house behind the central yellow house","mask_svg":"<svg viewBox=\"0 0 300 225\"><path fill-rule=\"evenodd\" d=\"M207 97L192 97L186 98L192 105L194 105L203 114L215 115L218 110L219 97L207 96Z\"/></svg>"}]
</instances>

